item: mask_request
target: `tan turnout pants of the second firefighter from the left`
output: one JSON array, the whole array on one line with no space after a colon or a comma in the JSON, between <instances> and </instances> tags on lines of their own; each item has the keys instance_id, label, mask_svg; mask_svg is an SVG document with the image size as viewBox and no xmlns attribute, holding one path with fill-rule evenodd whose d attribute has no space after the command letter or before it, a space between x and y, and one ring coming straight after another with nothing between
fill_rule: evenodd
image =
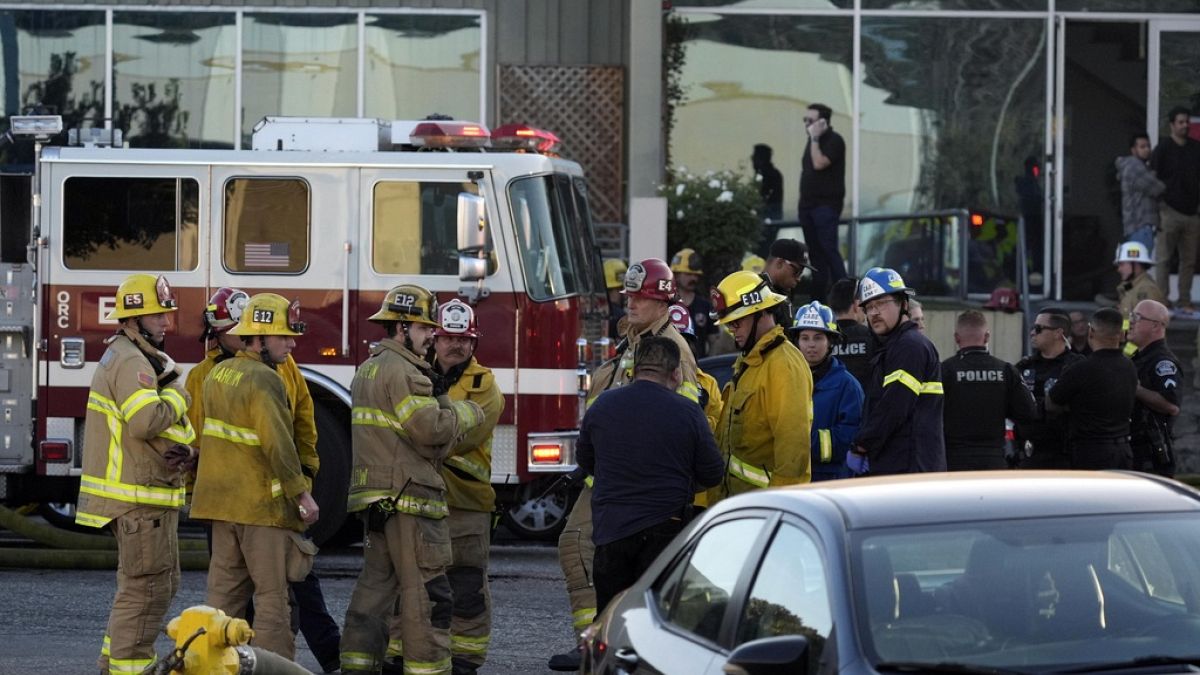
<instances>
[{"instance_id":1,"label":"tan turnout pants of the second firefighter from the left","mask_svg":"<svg viewBox=\"0 0 1200 675\"><path fill-rule=\"evenodd\" d=\"M209 604L245 619L253 597L252 644L286 658L295 658L288 599L288 556L296 555L293 551L289 530L212 521Z\"/></svg>"}]
</instances>

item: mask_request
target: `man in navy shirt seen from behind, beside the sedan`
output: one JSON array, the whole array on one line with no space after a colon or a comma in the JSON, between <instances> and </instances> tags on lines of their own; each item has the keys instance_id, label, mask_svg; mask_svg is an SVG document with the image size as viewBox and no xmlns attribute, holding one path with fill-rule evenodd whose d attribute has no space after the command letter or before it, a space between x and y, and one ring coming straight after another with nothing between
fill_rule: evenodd
<instances>
[{"instance_id":1,"label":"man in navy shirt seen from behind, beside the sedan","mask_svg":"<svg viewBox=\"0 0 1200 675\"><path fill-rule=\"evenodd\" d=\"M580 467L592 492L596 614L629 587L690 518L698 488L713 488L725 462L704 412L678 394L679 346L646 338L634 382L595 400L580 428ZM653 485L654 489L647 489Z\"/></svg>"}]
</instances>

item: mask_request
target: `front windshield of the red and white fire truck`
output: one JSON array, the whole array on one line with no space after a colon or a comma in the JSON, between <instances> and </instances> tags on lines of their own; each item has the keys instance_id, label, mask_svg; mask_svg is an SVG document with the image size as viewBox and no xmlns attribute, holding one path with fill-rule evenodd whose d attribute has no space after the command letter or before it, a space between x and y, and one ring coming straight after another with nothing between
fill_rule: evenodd
<instances>
[{"instance_id":1,"label":"front windshield of the red and white fire truck","mask_svg":"<svg viewBox=\"0 0 1200 675\"><path fill-rule=\"evenodd\" d=\"M534 300L604 288L582 180L539 175L509 185L526 292Z\"/></svg>"}]
</instances>

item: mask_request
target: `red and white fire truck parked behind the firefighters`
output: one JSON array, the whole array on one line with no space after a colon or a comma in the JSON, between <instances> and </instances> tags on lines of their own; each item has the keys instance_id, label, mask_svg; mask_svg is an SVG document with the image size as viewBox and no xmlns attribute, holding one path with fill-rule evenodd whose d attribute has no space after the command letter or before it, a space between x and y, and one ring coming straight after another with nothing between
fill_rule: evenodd
<instances>
[{"instance_id":1,"label":"red and white fire truck parked behind the firefighters","mask_svg":"<svg viewBox=\"0 0 1200 675\"><path fill-rule=\"evenodd\" d=\"M203 358L216 288L300 300L308 330L294 356L316 402L324 540L346 516L350 378L383 336L366 317L390 287L419 283L475 307L476 354L506 399L492 442L503 519L523 536L557 532L569 492L546 492L574 465L607 305L583 172L547 153L553 135L266 118L251 150L97 139L41 150L32 205L0 178L0 500L73 502L88 388L115 328L106 316L143 271L175 291L167 351L185 368Z\"/></svg>"}]
</instances>

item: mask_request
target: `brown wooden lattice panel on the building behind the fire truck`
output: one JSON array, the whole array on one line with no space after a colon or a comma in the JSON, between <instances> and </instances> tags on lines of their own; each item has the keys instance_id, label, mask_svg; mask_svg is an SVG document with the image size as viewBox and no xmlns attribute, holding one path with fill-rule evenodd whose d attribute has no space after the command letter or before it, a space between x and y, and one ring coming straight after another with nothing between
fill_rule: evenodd
<instances>
[{"instance_id":1,"label":"brown wooden lattice panel on the building behind the fire truck","mask_svg":"<svg viewBox=\"0 0 1200 675\"><path fill-rule=\"evenodd\" d=\"M619 66L500 66L499 121L553 131L583 166L596 222L624 222L625 71Z\"/></svg>"}]
</instances>

